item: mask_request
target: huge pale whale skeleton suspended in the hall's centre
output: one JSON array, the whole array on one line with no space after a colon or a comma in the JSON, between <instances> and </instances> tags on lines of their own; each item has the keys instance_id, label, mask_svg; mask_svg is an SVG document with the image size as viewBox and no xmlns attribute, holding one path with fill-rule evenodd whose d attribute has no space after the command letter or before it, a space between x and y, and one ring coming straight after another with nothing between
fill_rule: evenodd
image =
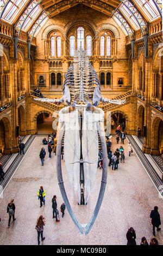
<instances>
[{"instance_id":1,"label":"huge pale whale skeleton suspended in the hall's centre","mask_svg":"<svg viewBox=\"0 0 163 256\"><path fill-rule=\"evenodd\" d=\"M62 103L67 107L59 112L60 132L57 145L57 173L62 197L74 223L83 233L89 233L102 203L108 172L105 134L103 128L104 112L97 108L100 102L123 104L125 100L110 100L101 96L97 73L89 58L80 47L74 61L68 68L61 99L36 99L46 102ZM96 180L98 163L98 134L102 142L103 176L101 190L91 221L87 225L78 223L68 202L61 173L61 142L64 138L65 168L78 204L86 204Z\"/></svg>"}]
</instances>

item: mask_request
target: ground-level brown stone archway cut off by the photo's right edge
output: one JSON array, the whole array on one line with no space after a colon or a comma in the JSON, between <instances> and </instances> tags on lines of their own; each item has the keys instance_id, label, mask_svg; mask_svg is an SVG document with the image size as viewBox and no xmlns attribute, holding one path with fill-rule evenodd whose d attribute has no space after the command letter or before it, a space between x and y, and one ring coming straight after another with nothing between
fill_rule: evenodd
<instances>
[{"instance_id":1,"label":"ground-level brown stone archway cut off by the photo's right edge","mask_svg":"<svg viewBox=\"0 0 163 256\"><path fill-rule=\"evenodd\" d=\"M152 154L163 154L163 120L156 117L152 124Z\"/></svg>"}]
</instances>

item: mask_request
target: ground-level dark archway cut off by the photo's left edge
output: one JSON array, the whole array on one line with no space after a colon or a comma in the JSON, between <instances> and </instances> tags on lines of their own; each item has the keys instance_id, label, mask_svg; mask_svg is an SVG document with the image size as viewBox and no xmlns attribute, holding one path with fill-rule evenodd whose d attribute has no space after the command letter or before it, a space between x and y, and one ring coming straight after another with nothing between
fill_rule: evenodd
<instances>
[{"instance_id":1,"label":"ground-level dark archway cut off by the photo's left edge","mask_svg":"<svg viewBox=\"0 0 163 256\"><path fill-rule=\"evenodd\" d=\"M0 153L11 152L11 126L7 117L0 120Z\"/></svg>"}]
</instances>

